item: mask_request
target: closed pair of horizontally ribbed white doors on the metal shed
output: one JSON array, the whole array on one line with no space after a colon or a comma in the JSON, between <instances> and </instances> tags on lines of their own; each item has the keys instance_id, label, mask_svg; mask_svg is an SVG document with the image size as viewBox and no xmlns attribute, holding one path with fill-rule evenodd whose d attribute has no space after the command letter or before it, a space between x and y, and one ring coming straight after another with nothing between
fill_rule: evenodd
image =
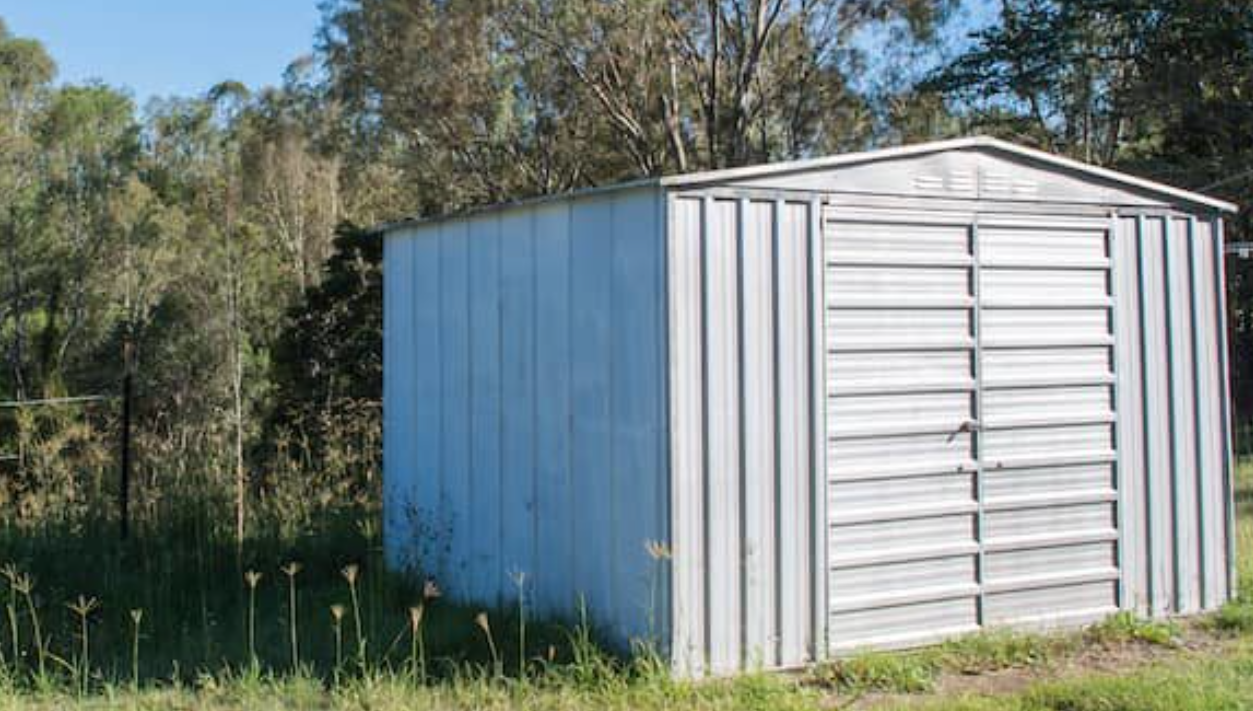
<instances>
[{"instance_id":1,"label":"closed pair of horizontally ribbed white doors on the metal shed","mask_svg":"<svg viewBox=\"0 0 1253 711\"><path fill-rule=\"evenodd\" d=\"M1109 223L824 216L828 641L1119 603Z\"/></svg>"}]
</instances>

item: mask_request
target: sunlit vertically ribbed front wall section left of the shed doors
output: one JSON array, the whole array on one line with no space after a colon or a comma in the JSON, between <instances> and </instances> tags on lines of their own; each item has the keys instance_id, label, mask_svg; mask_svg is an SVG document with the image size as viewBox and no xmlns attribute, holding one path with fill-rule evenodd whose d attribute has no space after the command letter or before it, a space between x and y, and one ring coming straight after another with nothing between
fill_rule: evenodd
<instances>
[{"instance_id":1,"label":"sunlit vertically ribbed front wall section left of the shed doors","mask_svg":"<svg viewBox=\"0 0 1253 711\"><path fill-rule=\"evenodd\" d=\"M812 658L811 281L819 206L669 202L675 667Z\"/></svg>"}]
</instances>

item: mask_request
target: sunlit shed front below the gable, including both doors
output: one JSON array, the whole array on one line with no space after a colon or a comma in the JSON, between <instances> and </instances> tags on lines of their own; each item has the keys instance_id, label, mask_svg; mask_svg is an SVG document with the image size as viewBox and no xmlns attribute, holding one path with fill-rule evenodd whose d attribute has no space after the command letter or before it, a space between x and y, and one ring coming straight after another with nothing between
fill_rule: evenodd
<instances>
[{"instance_id":1,"label":"sunlit shed front below the gable, including both doors","mask_svg":"<svg viewBox=\"0 0 1253 711\"><path fill-rule=\"evenodd\" d=\"M680 671L1229 594L1215 223L940 204L670 197Z\"/></svg>"}]
</instances>

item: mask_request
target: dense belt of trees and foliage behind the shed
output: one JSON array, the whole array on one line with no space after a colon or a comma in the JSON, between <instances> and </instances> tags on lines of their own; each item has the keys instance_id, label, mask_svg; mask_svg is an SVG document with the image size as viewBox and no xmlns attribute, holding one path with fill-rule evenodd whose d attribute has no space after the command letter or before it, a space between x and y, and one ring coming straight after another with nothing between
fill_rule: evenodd
<instances>
[{"instance_id":1,"label":"dense belt of trees and foliage behind the shed","mask_svg":"<svg viewBox=\"0 0 1253 711\"><path fill-rule=\"evenodd\" d=\"M380 245L361 226L970 132L1253 191L1249 0L322 6L279 87L142 109L55 84L36 40L0 29L9 525L117 515L128 370L140 525L192 507L224 539L294 537L373 507ZM1249 273L1232 272L1242 392ZM35 404L79 396L105 399Z\"/></svg>"}]
</instances>

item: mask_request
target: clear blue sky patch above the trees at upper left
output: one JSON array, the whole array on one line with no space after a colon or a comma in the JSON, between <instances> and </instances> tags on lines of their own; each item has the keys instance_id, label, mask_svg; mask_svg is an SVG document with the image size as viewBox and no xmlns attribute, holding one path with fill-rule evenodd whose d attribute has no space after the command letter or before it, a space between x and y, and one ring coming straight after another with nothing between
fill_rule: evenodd
<instances>
[{"instance_id":1,"label":"clear blue sky patch above the trees at upper left","mask_svg":"<svg viewBox=\"0 0 1253 711\"><path fill-rule=\"evenodd\" d=\"M44 43L60 82L99 79L149 98L224 79L277 84L313 48L318 0L0 0L9 31Z\"/></svg>"}]
</instances>

